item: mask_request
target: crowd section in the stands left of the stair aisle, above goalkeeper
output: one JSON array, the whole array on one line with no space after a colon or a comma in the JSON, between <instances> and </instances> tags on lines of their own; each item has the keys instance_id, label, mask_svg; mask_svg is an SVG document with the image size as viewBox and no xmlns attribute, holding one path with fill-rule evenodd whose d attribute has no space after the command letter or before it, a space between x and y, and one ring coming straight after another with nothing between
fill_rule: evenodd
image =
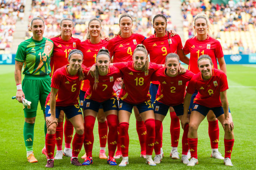
<instances>
[{"instance_id":1,"label":"crowd section in the stands left of the stair aisle, above goalkeeper","mask_svg":"<svg viewBox=\"0 0 256 170\"><path fill-rule=\"evenodd\" d=\"M24 17L25 0L0 0L0 53L8 52L13 41L15 24Z\"/></svg>"}]
</instances>

